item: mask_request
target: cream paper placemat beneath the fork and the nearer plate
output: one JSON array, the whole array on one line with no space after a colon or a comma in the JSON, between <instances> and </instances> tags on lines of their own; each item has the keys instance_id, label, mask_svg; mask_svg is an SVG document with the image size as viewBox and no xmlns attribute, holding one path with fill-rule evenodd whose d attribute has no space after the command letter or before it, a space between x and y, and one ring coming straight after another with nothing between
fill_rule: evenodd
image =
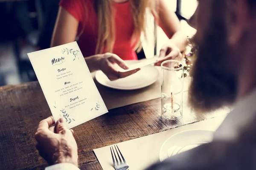
<instances>
[{"instance_id":1,"label":"cream paper placemat beneath the fork and the nearer plate","mask_svg":"<svg viewBox=\"0 0 256 170\"><path fill-rule=\"evenodd\" d=\"M225 114L224 114L225 115ZM131 170L143 170L156 161L159 161L159 152L163 143L170 136L185 130L202 129L216 130L225 116L212 118L174 129L166 130L153 135L118 143L118 147L130 166ZM114 170L110 146L93 150L103 170Z\"/></svg>"}]
</instances>

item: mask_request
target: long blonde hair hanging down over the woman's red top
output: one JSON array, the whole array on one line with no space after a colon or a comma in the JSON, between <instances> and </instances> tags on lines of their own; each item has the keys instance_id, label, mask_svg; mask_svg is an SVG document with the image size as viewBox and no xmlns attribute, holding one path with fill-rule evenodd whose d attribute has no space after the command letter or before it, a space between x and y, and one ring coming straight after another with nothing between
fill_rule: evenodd
<instances>
[{"instance_id":1,"label":"long blonde hair hanging down over the woman's red top","mask_svg":"<svg viewBox=\"0 0 256 170\"><path fill-rule=\"evenodd\" d=\"M148 7L157 17L157 0L128 0L131 6L131 14L134 20L134 32L132 40L137 40L141 33L144 33L146 39L146 8ZM96 54L101 54L106 47L107 52L113 51L115 43L115 22L113 0L94 0L94 8L98 17L98 40L96 45ZM85 6L86 11L86 6ZM134 50L140 51L142 48L139 41Z\"/></svg>"}]
</instances>

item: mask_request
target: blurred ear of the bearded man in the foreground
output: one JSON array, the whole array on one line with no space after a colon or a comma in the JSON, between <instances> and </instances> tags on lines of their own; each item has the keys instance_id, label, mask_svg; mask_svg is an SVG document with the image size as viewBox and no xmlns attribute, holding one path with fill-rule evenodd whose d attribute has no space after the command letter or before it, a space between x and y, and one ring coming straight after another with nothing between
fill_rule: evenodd
<instances>
[{"instance_id":1,"label":"blurred ear of the bearded man in the foreground","mask_svg":"<svg viewBox=\"0 0 256 170\"><path fill-rule=\"evenodd\" d=\"M227 0L228 43L237 46L250 22L247 0Z\"/></svg>"}]
</instances>

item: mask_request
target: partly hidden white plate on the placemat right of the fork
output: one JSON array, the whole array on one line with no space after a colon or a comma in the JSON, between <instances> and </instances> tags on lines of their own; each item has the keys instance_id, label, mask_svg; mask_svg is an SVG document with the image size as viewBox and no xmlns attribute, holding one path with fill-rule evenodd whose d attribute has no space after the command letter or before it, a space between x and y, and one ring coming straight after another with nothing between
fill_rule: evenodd
<instances>
[{"instance_id":1,"label":"partly hidden white plate on the placemat right of the fork","mask_svg":"<svg viewBox=\"0 0 256 170\"><path fill-rule=\"evenodd\" d=\"M169 137L160 149L160 161L212 141L214 131L187 130Z\"/></svg>"}]
</instances>

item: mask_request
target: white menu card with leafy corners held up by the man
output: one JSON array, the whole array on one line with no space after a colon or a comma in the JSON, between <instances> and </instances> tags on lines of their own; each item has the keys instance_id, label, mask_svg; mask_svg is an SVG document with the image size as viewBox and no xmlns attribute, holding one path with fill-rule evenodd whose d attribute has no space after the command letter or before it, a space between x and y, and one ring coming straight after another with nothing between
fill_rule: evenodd
<instances>
[{"instance_id":1,"label":"white menu card with leafy corners held up by the man","mask_svg":"<svg viewBox=\"0 0 256 170\"><path fill-rule=\"evenodd\" d=\"M72 128L108 112L76 42L28 56L55 122Z\"/></svg>"}]
</instances>

